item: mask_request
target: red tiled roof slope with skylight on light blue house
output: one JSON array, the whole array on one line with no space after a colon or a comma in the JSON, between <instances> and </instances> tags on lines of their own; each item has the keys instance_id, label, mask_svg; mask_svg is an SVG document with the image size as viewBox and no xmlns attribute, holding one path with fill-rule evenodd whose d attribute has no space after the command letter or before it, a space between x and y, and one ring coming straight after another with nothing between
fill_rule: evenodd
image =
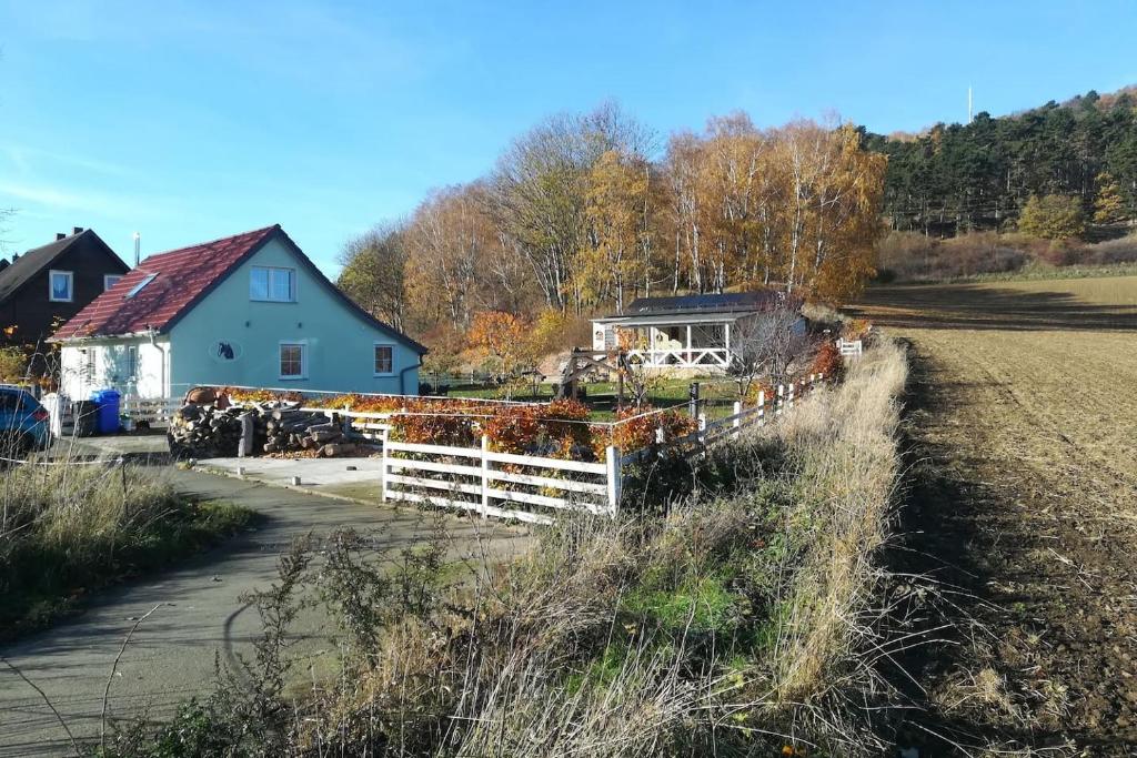
<instances>
[{"instance_id":1,"label":"red tiled roof slope with skylight on light blue house","mask_svg":"<svg viewBox=\"0 0 1137 758\"><path fill-rule=\"evenodd\" d=\"M52 339L164 332L275 233L283 234L280 224L150 256L64 324ZM155 277L149 284L133 298L126 297L151 274Z\"/></svg>"}]
</instances>

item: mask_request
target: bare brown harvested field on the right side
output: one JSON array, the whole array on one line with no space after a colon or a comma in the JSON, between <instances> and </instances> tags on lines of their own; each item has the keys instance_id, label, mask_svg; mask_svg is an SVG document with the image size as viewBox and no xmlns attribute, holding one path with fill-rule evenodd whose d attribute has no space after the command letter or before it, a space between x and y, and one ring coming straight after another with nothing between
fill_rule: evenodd
<instances>
[{"instance_id":1,"label":"bare brown harvested field on the right side","mask_svg":"<svg viewBox=\"0 0 1137 758\"><path fill-rule=\"evenodd\" d=\"M930 711L911 741L1134 755L1137 277L895 286L860 310L915 351L898 568L944 583L929 625L956 627L908 660Z\"/></svg>"}]
</instances>

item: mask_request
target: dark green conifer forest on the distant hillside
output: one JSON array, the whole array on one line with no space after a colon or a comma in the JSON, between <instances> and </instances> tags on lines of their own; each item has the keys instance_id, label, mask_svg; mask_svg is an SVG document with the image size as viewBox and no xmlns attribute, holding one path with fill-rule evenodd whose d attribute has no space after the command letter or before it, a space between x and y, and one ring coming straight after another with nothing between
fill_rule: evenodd
<instances>
[{"instance_id":1,"label":"dark green conifer forest on the distant hillside","mask_svg":"<svg viewBox=\"0 0 1137 758\"><path fill-rule=\"evenodd\" d=\"M1032 195L1078 200L1086 218L1137 217L1137 99L1132 88L920 135L866 134L889 157L885 213L895 230L932 236L1006 231ZM1103 213L1104 211L1104 213Z\"/></svg>"}]
</instances>

